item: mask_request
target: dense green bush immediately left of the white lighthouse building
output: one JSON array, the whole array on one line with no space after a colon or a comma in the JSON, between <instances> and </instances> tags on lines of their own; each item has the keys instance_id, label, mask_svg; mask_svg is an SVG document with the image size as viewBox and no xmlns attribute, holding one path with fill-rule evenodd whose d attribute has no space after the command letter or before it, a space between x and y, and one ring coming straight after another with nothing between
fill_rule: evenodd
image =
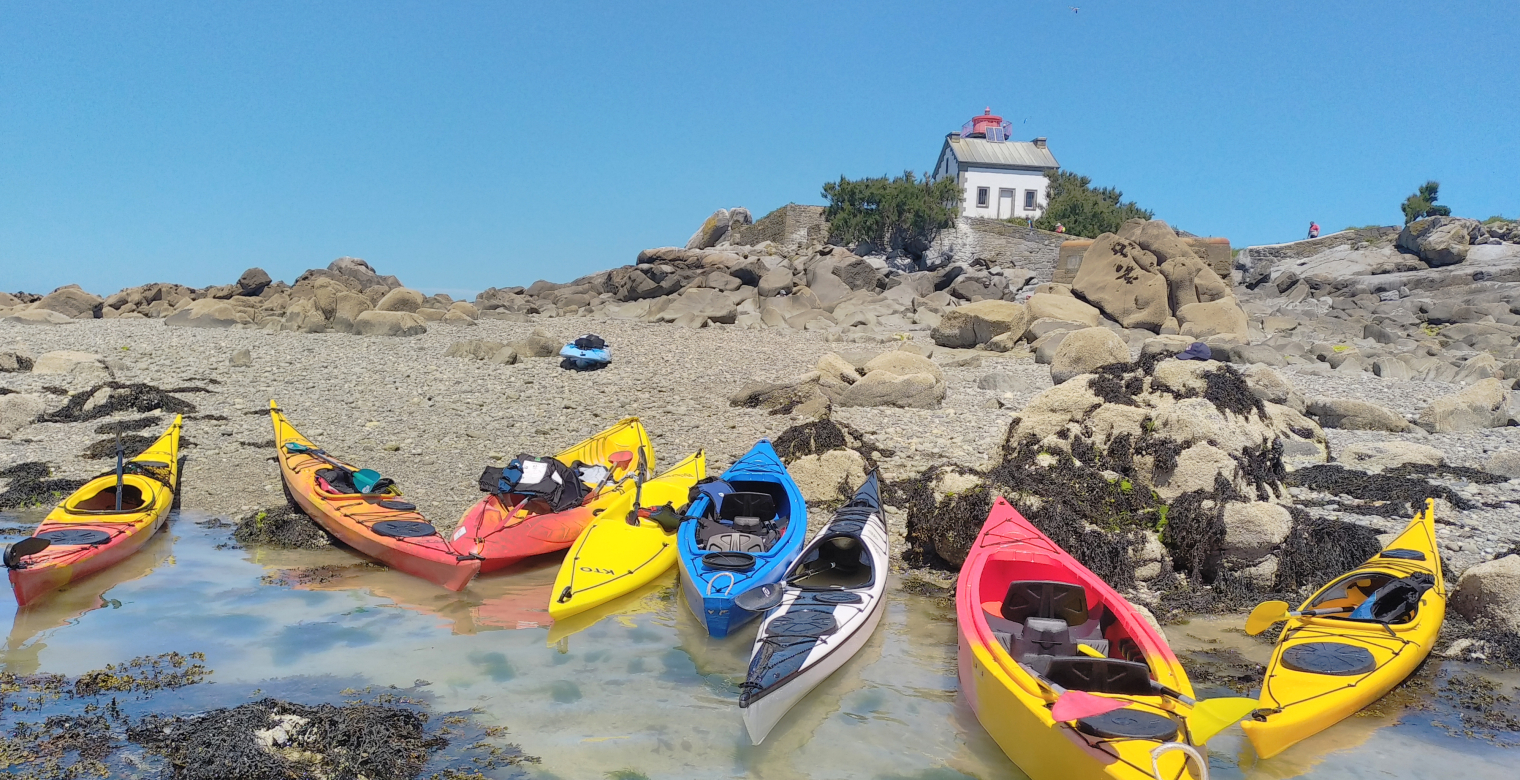
<instances>
[{"instance_id":1,"label":"dense green bush immediately left of the white lighthouse building","mask_svg":"<svg viewBox=\"0 0 1520 780\"><path fill-rule=\"evenodd\" d=\"M952 178L920 179L912 170L898 178L847 179L824 184L828 233L842 243L871 242L901 249L915 239L955 225L961 189Z\"/></svg>"}]
</instances>

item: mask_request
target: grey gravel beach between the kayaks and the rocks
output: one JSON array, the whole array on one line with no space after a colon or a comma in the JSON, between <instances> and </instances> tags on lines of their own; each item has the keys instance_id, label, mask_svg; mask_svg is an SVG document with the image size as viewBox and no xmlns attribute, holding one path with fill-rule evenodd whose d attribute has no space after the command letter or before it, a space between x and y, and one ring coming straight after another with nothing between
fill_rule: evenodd
<instances>
[{"instance_id":1,"label":"grey gravel beach between the kayaks and the rocks","mask_svg":"<svg viewBox=\"0 0 1520 780\"><path fill-rule=\"evenodd\" d=\"M613 344L614 363L596 373L575 373L561 369L558 359L503 366L444 357L454 341L511 342L535 327L558 341L600 333ZM906 336L930 345L924 330ZM185 506L231 515L283 502L271 461L269 420L263 414L275 398L307 436L334 455L391 476L447 529L479 499L476 479L482 467L518 452L558 452L625 415L644 420L661 464L705 447L710 471L717 473L755 439L774 438L800 421L731 407L728 395L745 382L795 377L812 369L825 351L874 354L895 348L895 342L839 344L815 331L731 327L693 331L663 324L553 318L529 324L486 319L477 327L435 324L427 335L410 339L175 328L160 321L88 321L62 327L0 322L0 348L5 347L24 347L33 356L88 351L106 356L120 382L208 388L211 392L179 395L198 406L196 417L226 418L185 424L185 436L196 444L185 450ZM251 368L228 365L239 348L252 353ZM1049 368L1034 363L1028 353L941 351L935 360L948 383L941 409L834 412L836 420L863 432L871 444L892 452L882 461L888 480L945 461L983 465L1014 411L1050 386ZM997 389L979 386L988 374L1002 374L994 383ZM1436 395L1461 389L1436 382L1383 380L1368 373L1318 376L1286 368L1283 374L1307 398L1363 398L1406 415L1418 414ZM70 379L0 374L0 388L90 386L81 380L70 385ZM62 397L53 398L62 404ZM30 426L12 439L0 439L0 468L47 461L58 476L100 473L109 468L108 461L87 461L79 453L105 438L94 430L106 421ZM167 417L161 424L167 424ZM155 430L157 426L143 433ZM1359 441L1409 439L1433 445L1447 453L1452 465L1465 467L1482 467L1494 452L1520 449L1520 427L1450 435L1335 429L1327 433L1333 452ZM1450 520L1442 526L1447 537L1442 543L1453 569L1520 544L1520 480L1442 484L1485 505L1465 512L1442 508L1442 517ZM1403 523L1339 508L1312 511L1380 531ZM895 531L900 534L901 528Z\"/></svg>"}]
</instances>

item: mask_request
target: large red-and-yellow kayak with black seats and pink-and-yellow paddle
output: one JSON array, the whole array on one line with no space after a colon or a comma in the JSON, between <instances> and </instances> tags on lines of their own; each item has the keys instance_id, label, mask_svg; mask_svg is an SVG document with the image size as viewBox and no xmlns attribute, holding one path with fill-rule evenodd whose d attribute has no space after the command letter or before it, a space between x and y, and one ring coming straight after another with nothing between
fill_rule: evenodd
<instances>
[{"instance_id":1,"label":"large red-and-yellow kayak with black seats and pink-and-yellow paddle","mask_svg":"<svg viewBox=\"0 0 1520 780\"><path fill-rule=\"evenodd\" d=\"M961 569L956 622L961 692L1032 780L1154 780L1154 762L1169 780L1207 777L1202 742L1230 721L1193 718L1160 633L1005 499Z\"/></svg>"}]
</instances>

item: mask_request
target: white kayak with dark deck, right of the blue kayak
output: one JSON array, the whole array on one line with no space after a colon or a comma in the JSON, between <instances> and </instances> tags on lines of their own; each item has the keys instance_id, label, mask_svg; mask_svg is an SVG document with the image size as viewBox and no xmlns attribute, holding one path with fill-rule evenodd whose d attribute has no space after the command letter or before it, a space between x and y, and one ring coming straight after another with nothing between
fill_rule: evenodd
<instances>
[{"instance_id":1,"label":"white kayak with dark deck, right of the blue kayak","mask_svg":"<svg viewBox=\"0 0 1520 780\"><path fill-rule=\"evenodd\" d=\"M886 520L872 473L780 584L739 596L769 608L739 696L751 742L763 742L792 705L865 646L882 622L885 590Z\"/></svg>"}]
</instances>

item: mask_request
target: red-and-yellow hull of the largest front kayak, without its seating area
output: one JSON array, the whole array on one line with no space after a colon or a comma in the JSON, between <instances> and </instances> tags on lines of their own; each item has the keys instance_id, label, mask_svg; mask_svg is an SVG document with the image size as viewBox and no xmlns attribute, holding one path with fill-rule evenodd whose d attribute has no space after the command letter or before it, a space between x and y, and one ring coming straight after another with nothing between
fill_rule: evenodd
<instances>
[{"instance_id":1,"label":"red-and-yellow hull of the largest front kayak, without its seating area","mask_svg":"<svg viewBox=\"0 0 1520 780\"><path fill-rule=\"evenodd\" d=\"M1072 722L1052 718L1050 705L1056 695L1009 654L985 617L988 608L1000 607L1012 581L1081 585L1090 614L1102 608L1113 620L1102 629L1102 637L1113 648L1108 657L1142 661L1154 681L1189 696L1193 693L1187 674L1160 633L1123 596L999 497L956 582L958 677L977 721L1032 780L1154 780L1151 751L1167 742L1102 740L1087 736ZM1126 702L1126 710L1172 719L1180 727L1178 734L1187 733L1183 728L1186 718L1172 699L1158 695L1116 698ZM1163 753L1157 760L1161 775L1167 778L1201 774L1181 751Z\"/></svg>"}]
</instances>

